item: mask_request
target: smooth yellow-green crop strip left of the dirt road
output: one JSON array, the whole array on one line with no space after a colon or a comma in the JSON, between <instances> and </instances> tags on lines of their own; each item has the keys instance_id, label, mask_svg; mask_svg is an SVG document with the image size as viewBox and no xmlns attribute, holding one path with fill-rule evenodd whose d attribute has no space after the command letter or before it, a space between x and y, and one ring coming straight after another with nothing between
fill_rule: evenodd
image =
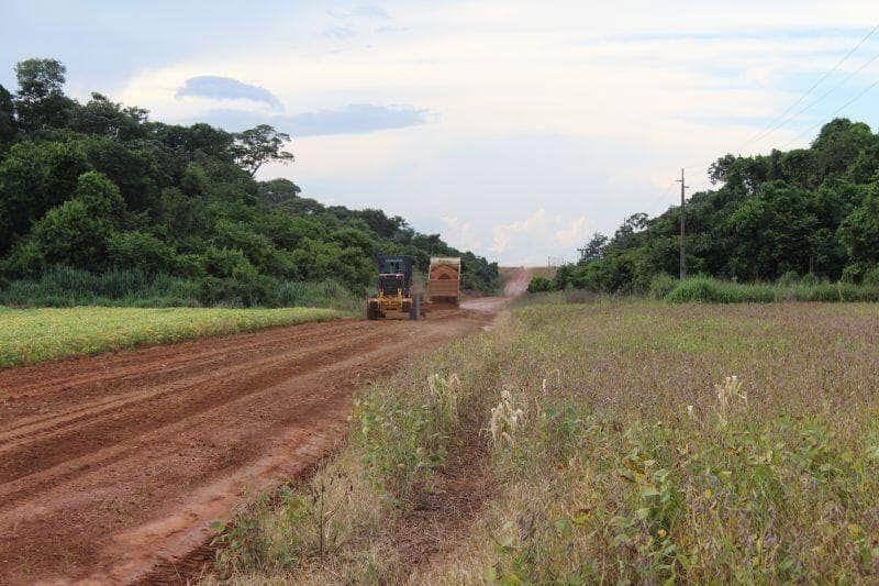
<instances>
[{"instance_id":1,"label":"smooth yellow-green crop strip left of the dirt road","mask_svg":"<svg viewBox=\"0 0 879 586\"><path fill-rule=\"evenodd\" d=\"M0 308L0 367L346 314L315 308Z\"/></svg>"}]
</instances>

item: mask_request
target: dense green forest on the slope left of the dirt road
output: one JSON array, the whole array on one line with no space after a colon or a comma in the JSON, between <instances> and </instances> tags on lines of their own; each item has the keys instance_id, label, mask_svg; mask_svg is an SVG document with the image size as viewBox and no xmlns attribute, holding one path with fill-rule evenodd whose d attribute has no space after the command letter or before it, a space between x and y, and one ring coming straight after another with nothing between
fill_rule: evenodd
<instances>
[{"instance_id":1,"label":"dense green forest on the slope left of the dirt road","mask_svg":"<svg viewBox=\"0 0 879 586\"><path fill-rule=\"evenodd\" d=\"M431 255L460 255L465 288L498 285L496 264L400 217L256 180L292 159L271 126L164 124L99 93L79 103L54 59L15 74L14 95L0 86L0 302L285 305L302 301L291 284L361 295L377 254L411 255L421 270Z\"/></svg>"}]
</instances>

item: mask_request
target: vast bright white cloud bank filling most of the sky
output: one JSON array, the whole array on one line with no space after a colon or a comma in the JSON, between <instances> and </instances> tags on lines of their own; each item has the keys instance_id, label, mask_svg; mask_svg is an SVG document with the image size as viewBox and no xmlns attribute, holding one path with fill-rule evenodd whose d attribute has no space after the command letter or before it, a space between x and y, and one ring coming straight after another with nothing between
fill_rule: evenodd
<instances>
[{"instance_id":1,"label":"vast bright white cloud bank filling most of the sky","mask_svg":"<svg viewBox=\"0 0 879 586\"><path fill-rule=\"evenodd\" d=\"M593 230L672 203L680 167L693 167L688 183L703 188L699 167L714 157L739 145L766 151L821 120L845 88L799 124L747 142L875 14L874 0L352 4L297 22L296 45L268 34L247 51L142 71L121 99L159 120L191 120L211 104L181 103L174 91L213 74L266 88L287 112L351 103L436 112L436 123L376 134L294 136L296 165L264 176L385 208L504 262L545 261L571 257ZM322 34L340 24L354 34ZM394 34L379 32L389 26ZM878 47L879 35L831 82ZM879 63L858 78L877 74Z\"/></svg>"}]
</instances>

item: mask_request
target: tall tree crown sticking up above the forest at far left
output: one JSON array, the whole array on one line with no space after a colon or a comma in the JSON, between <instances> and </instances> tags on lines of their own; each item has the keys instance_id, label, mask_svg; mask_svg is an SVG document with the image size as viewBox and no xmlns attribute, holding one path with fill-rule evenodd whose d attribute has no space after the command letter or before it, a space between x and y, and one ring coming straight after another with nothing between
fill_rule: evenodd
<instances>
[{"instance_id":1,"label":"tall tree crown sticking up above the forest at far left","mask_svg":"<svg viewBox=\"0 0 879 586\"><path fill-rule=\"evenodd\" d=\"M75 102L64 95L67 68L56 59L25 59L15 65L19 125L29 132L64 128Z\"/></svg>"}]
</instances>

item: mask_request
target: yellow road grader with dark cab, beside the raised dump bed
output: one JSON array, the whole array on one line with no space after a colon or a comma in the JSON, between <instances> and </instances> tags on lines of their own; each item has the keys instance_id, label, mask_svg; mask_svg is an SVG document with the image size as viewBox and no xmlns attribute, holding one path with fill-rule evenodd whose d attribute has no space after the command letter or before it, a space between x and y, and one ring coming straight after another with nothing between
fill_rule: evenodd
<instances>
[{"instance_id":1,"label":"yellow road grader with dark cab, beside the raised dump bed","mask_svg":"<svg viewBox=\"0 0 879 586\"><path fill-rule=\"evenodd\" d=\"M376 295L366 300L366 319L418 320L424 317L422 294L412 290L412 258L379 256Z\"/></svg>"}]
</instances>

